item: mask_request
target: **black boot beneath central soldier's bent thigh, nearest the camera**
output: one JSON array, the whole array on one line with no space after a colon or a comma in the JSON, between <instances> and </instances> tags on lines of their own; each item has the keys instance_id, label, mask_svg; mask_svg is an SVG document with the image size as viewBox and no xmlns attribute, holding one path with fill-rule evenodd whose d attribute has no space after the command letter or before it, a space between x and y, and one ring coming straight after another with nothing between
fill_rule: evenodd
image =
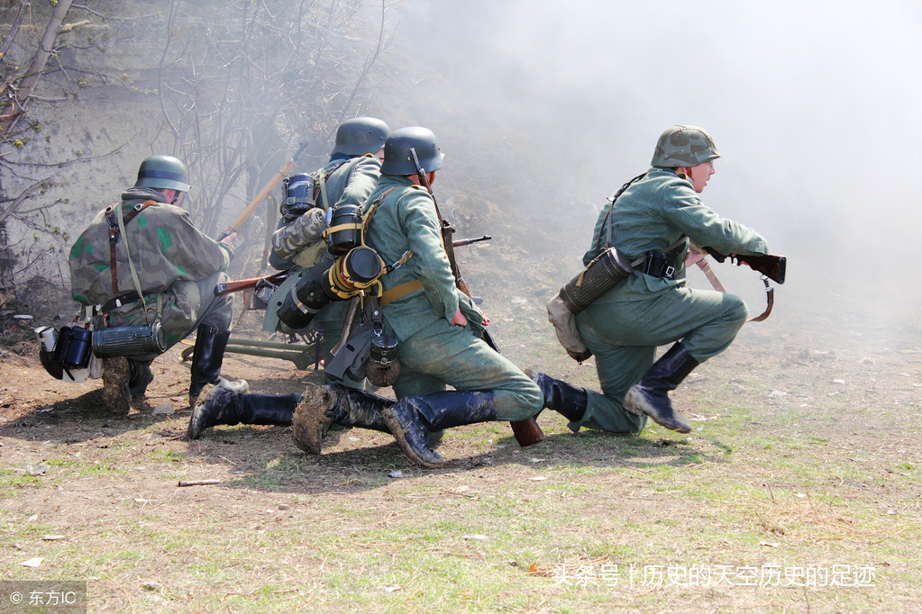
<instances>
[{"instance_id":1,"label":"black boot beneath central soldier's bent thigh, nearest the camera","mask_svg":"<svg viewBox=\"0 0 922 614\"><path fill-rule=\"evenodd\" d=\"M429 433L464 424L496 420L496 396L492 392L445 390L418 397L404 397L381 411L397 445L410 460L436 469L445 460L429 445Z\"/></svg>"}]
</instances>

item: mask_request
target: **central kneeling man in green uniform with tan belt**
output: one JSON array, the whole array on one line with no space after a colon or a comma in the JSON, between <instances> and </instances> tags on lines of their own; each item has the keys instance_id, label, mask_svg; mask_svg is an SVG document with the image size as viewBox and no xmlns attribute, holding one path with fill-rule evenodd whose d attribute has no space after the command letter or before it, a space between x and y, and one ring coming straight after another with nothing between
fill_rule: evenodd
<instances>
[{"instance_id":1,"label":"central kneeling man in green uniform with tan belt","mask_svg":"<svg viewBox=\"0 0 922 614\"><path fill-rule=\"evenodd\" d=\"M295 437L319 452L332 423L389 430L413 461L439 467L429 434L453 426L517 421L541 409L541 391L481 335L486 320L455 285L441 225L411 157L429 182L443 154L430 130L403 128L384 145L382 177L365 205L374 209L366 244L384 262L409 260L382 278L384 332L398 340L396 401L339 386L309 389L295 418ZM447 390L451 386L454 390Z\"/></svg>"}]
</instances>

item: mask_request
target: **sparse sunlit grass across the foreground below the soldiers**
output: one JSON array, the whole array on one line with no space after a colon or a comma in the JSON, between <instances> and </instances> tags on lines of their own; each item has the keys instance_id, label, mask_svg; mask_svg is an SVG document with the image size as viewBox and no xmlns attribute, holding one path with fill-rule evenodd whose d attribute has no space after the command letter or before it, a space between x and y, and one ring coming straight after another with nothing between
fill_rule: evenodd
<instances>
[{"instance_id":1,"label":"sparse sunlit grass across the foreground below the soldiers","mask_svg":"<svg viewBox=\"0 0 922 614\"><path fill-rule=\"evenodd\" d=\"M913 610L922 421L826 396L831 376L796 396L814 367L708 365L677 391L703 417L691 434L574 435L546 411L547 441L521 449L505 424L458 428L436 470L359 431L321 457L271 427L151 442L181 417L16 458L7 444L0 551L9 579L89 579L91 611Z\"/></svg>"}]
</instances>

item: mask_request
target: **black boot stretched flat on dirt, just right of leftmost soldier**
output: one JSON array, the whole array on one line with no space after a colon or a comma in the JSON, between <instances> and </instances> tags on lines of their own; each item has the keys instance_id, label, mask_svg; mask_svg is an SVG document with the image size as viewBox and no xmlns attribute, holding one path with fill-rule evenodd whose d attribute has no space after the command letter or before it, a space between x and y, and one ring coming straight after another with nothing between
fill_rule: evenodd
<instances>
[{"instance_id":1,"label":"black boot stretched flat on dirt, just right of leftmost soldier","mask_svg":"<svg viewBox=\"0 0 922 614\"><path fill-rule=\"evenodd\" d=\"M293 394L241 394L216 386L195 406L185 438L198 439L202 431L217 424L288 425L297 404Z\"/></svg>"}]
</instances>

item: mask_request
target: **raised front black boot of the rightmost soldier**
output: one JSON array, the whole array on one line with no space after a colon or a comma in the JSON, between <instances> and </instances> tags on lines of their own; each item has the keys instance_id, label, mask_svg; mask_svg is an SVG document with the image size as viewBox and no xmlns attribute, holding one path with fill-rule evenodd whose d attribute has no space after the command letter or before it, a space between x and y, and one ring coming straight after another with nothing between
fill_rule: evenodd
<instances>
[{"instance_id":1,"label":"raised front black boot of the rightmost soldier","mask_svg":"<svg viewBox=\"0 0 922 614\"><path fill-rule=\"evenodd\" d=\"M628 390L624 409L637 416L650 416L654 422L672 431L691 433L691 424L672 407L668 392L675 390L698 365L700 363L685 346L677 342Z\"/></svg>"}]
</instances>

